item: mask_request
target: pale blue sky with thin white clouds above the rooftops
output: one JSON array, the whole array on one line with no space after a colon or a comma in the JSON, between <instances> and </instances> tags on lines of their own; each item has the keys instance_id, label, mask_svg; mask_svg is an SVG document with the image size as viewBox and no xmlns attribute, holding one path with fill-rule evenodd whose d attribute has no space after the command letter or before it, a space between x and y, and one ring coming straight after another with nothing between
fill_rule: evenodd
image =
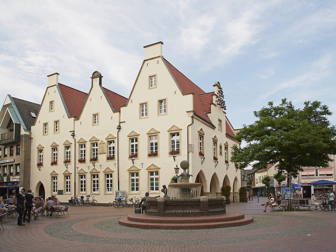
<instances>
[{"instance_id":1,"label":"pale blue sky with thin white clouds above the rooftops","mask_svg":"<svg viewBox=\"0 0 336 252\"><path fill-rule=\"evenodd\" d=\"M92 73L129 97L144 45L205 92L219 81L235 129L287 98L319 100L336 124L336 1L0 0L0 102L41 103L47 75L84 92Z\"/></svg>"}]
</instances>

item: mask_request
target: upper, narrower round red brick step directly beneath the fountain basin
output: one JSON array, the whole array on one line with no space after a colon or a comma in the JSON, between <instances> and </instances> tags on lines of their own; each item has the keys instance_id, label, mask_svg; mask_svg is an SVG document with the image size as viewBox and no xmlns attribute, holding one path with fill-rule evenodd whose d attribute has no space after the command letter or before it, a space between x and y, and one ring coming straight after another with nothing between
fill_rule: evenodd
<instances>
[{"instance_id":1,"label":"upper, narrower round red brick step directly beneath the fountain basin","mask_svg":"<svg viewBox=\"0 0 336 252\"><path fill-rule=\"evenodd\" d=\"M225 222L243 219L244 214L227 213L222 215L200 216L200 217L157 217L140 214L130 214L129 221L149 222L149 223L205 223L205 222Z\"/></svg>"}]
</instances>

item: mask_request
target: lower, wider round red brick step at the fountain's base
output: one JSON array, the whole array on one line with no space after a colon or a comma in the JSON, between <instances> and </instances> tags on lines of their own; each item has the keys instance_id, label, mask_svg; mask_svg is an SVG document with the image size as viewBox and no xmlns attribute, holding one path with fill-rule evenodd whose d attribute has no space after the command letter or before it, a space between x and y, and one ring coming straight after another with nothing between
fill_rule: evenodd
<instances>
[{"instance_id":1,"label":"lower, wider round red brick step at the fountain's base","mask_svg":"<svg viewBox=\"0 0 336 252\"><path fill-rule=\"evenodd\" d=\"M239 220L214 221L206 223L149 223L128 220L127 217L119 219L119 224L128 227L146 228L146 229L205 229L220 227L242 226L253 222L252 217L244 217Z\"/></svg>"}]
</instances>

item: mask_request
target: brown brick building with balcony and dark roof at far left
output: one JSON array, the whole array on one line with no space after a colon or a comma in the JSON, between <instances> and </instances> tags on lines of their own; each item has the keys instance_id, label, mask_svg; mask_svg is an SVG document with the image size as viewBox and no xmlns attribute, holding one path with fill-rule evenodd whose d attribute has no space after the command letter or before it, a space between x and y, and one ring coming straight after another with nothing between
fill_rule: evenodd
<instances>
[{"instance_id":1,"label":"brown brick building with balcony and dark roof at far left","mask_svg":"<svg viewBox=\"0 0 336 252\"><path fill-rule=\"evenodd\" d=\"M40 105L7 95L0 112L0 196L12 199L29 188L31 125Z\"/></svg>"}]
</instances>

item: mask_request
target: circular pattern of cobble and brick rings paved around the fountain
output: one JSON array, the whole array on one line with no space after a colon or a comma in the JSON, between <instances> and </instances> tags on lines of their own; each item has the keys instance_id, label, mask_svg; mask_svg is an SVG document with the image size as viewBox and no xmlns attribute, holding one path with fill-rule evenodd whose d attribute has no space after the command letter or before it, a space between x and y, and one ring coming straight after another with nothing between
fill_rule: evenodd
<instances>
[{"instance_id":1,"label":"circular pattern of cobble and brick rings paved around the fountain","mask_svg":"<svg viewBox=\"0 0 336 252\"><path fill-rule=\"evenodd\" d=\"M106 220L99 221L100 218L105 218ZM52 237L77 242L122 245L178 246L262 241L274 238L289 237L298 234L308 234L323 230L330 226L328 221L294 214L282 217L282 219L286 218L286 225L283 229L279 230L276 228L276 226L280 223L280 221L277 220L278 217L269 214L263 217L253 216L253 218L255 218L253 223L239 227L200 230L144 230L120 226L118 224L119 218L120 216L99 216L60 221L47 225L44 230ZM90 234L88 234L85 233L87 232L85 228L77 229L81 230L81 232L73 228L77 225L82 227L82 224L84 226L91 225L93 229L98 231L97 233L101 234L101 232L105 232L106 235L93 235L94 230L90 230ZM252 235L246 235L246 233L243 234L244 231L254 229L259 229L259 233ZM210 233L210 235L207 235L208 233ZM137 234L138 239L134 238L134 234Z\"/></svg>"}]
</instances>

